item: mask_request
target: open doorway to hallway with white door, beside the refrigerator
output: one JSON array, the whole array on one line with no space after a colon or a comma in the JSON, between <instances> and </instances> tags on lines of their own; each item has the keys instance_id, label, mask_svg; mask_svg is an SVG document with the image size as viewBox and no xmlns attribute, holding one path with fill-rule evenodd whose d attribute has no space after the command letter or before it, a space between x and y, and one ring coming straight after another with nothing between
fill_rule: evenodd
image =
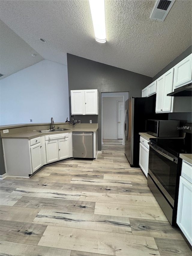
<instances>
[{"instance_id":1,"label":"open doorway to hallway with white door, beside the refrigerator","mask_svg":"<svg viewBox=\"0 0 192 256\"><path fill-rule=\"evenodd\" d=\"M123 139L124 112L128 92L101 93L101 144L103 139Z\"/></svg>"}]
</instances>

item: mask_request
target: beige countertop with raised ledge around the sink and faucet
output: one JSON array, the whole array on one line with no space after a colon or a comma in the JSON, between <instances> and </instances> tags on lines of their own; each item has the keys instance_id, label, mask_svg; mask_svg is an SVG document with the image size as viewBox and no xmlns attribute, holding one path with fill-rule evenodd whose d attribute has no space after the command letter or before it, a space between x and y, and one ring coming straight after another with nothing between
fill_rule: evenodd
<instances>
[{"instance_id":1,"label":"beige countertop with raised ledge around the sink and faucet","mask_svg":"<svg viewBox=\"0 0 192 256\"><path fill-rule=\"evenodd\" d=\"M49 134L61 134L61 133L67 133L67 132L96 132L98 130L98 124L76 124L76 125L70 125L68 123L54 123L55 127L57 125L60 126L60 128L67 128L69 130L67 131L54 131L54 132L44 132L40 133L39 130L47 130L47 125L50 126L50 123L46 124L21 124L21 125L10 125L10 126L2 126L0 127L1 130L1 139L33 139L35 137L40 137L44 135ZM28 131L27 129L30 129L30 126L33 127L33 131ZM9 133L3 134L3 129L10 129ZM35 129L36 128L36 129ZM14 132L15 131L15 132Z\"/></svg>"}]
</instances>

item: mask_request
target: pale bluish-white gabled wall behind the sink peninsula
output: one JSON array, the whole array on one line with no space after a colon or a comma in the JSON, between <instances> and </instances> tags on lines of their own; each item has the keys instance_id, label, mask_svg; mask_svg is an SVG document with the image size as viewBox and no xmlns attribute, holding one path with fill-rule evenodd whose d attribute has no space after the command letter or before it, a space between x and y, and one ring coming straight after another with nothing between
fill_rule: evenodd
<instances>
[{"instance_id":1,"label":"pale bluish-white gabled wall behind the sink peninsula","mask_svg":"<svg viewBox=\"0 0 192 256\"><path fill-rule=\"evenodd\" d=\"M69 119L67 66L42 60L0 80L0 125Z\"/></svg>"}]
</instances>

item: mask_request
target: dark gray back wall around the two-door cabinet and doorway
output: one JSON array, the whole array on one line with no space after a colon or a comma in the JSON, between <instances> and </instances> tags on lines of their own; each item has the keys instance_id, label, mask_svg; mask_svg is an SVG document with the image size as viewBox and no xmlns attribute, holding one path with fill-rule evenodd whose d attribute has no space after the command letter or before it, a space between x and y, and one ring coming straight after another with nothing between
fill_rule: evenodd
<instances>
[{"instance_id":1,"label":"dark gray back wall around the two-door cabinet and doorway","mask_svg":"<svg viewBox=\"0 0 192 256\"><path fill-rule=\"evenodd\" d=\"M128 60L129 61L129 60ZM147 77L121 68L84 59L67 53L67 70L70 90L98 89L99 114L73 116L82 123L98 123L98 150L101 150L101 92L129 92L129 97L141 97L141 90L152 83L152 77ZM70 118L70 121L72 119Z\"/></svg>"}]
</instances>

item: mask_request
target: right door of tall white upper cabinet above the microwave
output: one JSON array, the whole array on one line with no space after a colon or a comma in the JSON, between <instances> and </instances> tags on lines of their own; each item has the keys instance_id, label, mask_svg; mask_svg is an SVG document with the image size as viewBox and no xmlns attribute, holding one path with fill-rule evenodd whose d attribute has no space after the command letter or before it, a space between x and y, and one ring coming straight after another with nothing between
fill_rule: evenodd
<instances>
[{"instance_id":1,"label":"right door of tall white upper cabinet above the microwave","mask_svg":"<svg viewBox=\"0 0 192 256\"><path fill-rule=\"evenodd\" d=\"M162 112L172 112L173 110L173 97L167 96L168 93L173 91L173 68L164 74L164 91L163 91L163 106Z\"/></svg>"}]
</instances>

